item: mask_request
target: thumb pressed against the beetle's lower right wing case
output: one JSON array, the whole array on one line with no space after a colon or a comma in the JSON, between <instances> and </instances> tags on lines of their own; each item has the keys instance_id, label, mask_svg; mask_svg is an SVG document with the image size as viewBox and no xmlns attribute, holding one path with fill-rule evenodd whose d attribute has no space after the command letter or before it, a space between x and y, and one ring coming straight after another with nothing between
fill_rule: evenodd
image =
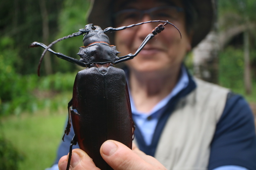
<instances>
[{"instance_id":1,"label":"thumb pressed against the beetle's lower right wing case","mask_svg":"<svg viewBox=\"0 0 256 170\"><path fill-rule=\"evenodd\" d=\"M104 142L101 145L100 154L115 170L148 170L153 168L130 148L114 140Z\"/></svg>"}]
</instances>

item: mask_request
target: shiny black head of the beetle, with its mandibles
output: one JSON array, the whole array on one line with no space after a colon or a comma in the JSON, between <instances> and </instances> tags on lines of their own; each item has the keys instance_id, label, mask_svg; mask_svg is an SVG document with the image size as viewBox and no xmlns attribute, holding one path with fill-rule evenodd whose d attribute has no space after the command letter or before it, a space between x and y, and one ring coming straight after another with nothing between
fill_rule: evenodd
<instances>
[{"instance_id":1,"label":"shiny black head of the beetle, with its mandibles","mask_svg":"<svg viewBox=\"0 0 256 170\"><path fill-rule=\"evenodd\" d=\"M95 29L93 30L93 28ZM88 24L85 26L85 29L89 31L84 35L83 43L85 47L94 42L106 42L110 44L108 36L99 26L92 26L92 24Z\"/></svg>"}]
</instances>

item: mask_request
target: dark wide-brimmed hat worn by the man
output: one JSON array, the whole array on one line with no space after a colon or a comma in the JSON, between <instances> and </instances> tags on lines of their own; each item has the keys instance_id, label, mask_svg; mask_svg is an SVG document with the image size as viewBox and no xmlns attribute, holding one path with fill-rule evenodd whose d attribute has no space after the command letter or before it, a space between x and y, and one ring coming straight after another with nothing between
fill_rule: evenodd
<instances>
[{"instance_id":1,"label":"dark wide-brimmed hat worn by the man","mask_svg":"<svg viewBox=\"0 0 256 170\"><path fill-rule=\"evenodd\" d=\"M112 26L111 9L113 0L91 0L91 6L87 13L88 22L102 29ZM118 0L122 1L122 0ZM213 0L191 0L191 4L197 13L196 23L194 23L192 48L195 47L212 28L214 18ZM136 24L136 23L134 23ZM113 43L114 34L108 34L110 42Z\"/></svg>"}]
</instances>

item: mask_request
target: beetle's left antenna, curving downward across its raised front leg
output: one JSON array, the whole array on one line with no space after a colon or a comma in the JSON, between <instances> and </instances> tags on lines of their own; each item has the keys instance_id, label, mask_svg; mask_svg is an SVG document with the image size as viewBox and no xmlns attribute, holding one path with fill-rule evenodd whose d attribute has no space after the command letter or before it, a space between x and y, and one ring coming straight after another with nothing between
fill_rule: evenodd
<instances>
[{"instance_id":1,"label":"beetle's left antenna, curving downward across its raised front leg","mask_svg":"<svg viewBox=\"0 0 256 170\"><path fill-rule=\"evenodd\" d=\"M58 40L55 40L53 41L51 44L49 44L49 46L47 48L45 48L44 52L42 53L41 57L40 57L40 60L39 60L39 63L38 63L38 67L37 67L37 75L40 76L40 67L41 67L41 63L43 61L43 58L44 58L44 55L45 53L47 52L47 50L49 48L52 47L53 44L56 44L57 42L61 41L61 40L65 40L67 38L71 38L71 37L76 37L76 36L79 36L79 35L83 35L84 33L88 33L89 31L87 29L80 29L77 33L72 33L68 36L65 36L65 37L62 37L62 38L59 38Z\"/></svg>"}]
</instances>

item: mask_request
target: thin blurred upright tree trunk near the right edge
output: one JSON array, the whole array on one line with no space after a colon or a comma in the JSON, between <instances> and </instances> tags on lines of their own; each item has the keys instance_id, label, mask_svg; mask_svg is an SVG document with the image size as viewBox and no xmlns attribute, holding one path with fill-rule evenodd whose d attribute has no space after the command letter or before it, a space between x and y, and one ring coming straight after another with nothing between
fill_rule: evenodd
<instances>
[{"instance_id":1,"label":"thin blurred upright tree trunk near the right edge","mask_svg":"<svg viewBox=\"0 0 256 170\"><path fill-rule=\"evenodd\" d=\"M252 79L250 68L250 41L248 30L244 32L244 86L246 94L251 94Z\"/></svg>"}]
</instances>

